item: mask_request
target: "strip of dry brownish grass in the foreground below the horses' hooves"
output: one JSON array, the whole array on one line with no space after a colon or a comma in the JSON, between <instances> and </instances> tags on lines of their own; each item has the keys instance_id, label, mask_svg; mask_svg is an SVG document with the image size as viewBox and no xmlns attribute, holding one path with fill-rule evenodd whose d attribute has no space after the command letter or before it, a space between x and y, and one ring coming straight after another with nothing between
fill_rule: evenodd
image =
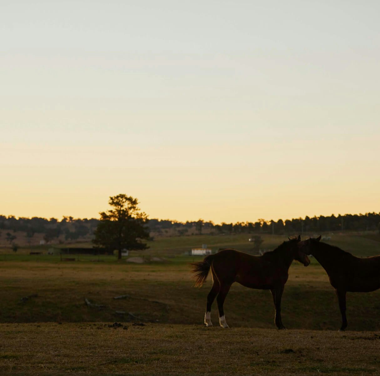
<instances>
[{"instance_id":1,"label":"strip of dry brownish grass in the foreground below the horses' hooves","mask_svg":"<svg viewBox=\"0 0 380 376\"><path fill-rule=\"evenodd\" d=\"M2 375L378 374L379 333L0 324Z\"/></svg>"}]
</instances>

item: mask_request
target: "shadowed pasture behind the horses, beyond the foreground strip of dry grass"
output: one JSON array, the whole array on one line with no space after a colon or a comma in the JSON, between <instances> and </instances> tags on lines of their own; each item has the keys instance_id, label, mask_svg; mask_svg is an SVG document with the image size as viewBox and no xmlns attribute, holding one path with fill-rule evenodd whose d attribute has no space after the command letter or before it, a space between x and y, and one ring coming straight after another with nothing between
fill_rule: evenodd
<instances>
[{"instance_id":1,"label":"shadowed pasture behind the horses, beyond the foreground strip of dry grass","mask_svg":"<svg viewBox=\"0 0 380 376\"><path fill-rule=\"evenodd\" d=\"M208 278L194 288L189 263L203 257L184 255L202 243L213 250L249 247L247 236L198 236L163 238L152 242L141 255L144 264L116 261L114 256L78 255L76 261L60 261L59 255L0 255L0 322L105 322L203 324ZM273 249L286 237L264 236L264 248ZM233 244L233 241L236 241ZM332 244L359 256L380 254L380 242L356 235L334 236ZM162 262L150 261L153 256ZM70 255L71 257L71 255ZM114 297L128 295L125 299ZM22 299L24 298L24 299ZM26 299L25 299L26 298ZM84 299L102 307L87 306ZM125 313L120 313L125 312ZM234 284L227 296L225 313L231 327L273 328L271 294ZM380 295L348 293L350 330L380 330ZM285 286L283 323L294 329L331 329L340 324L334 290L315 259L305 268L294 262ZM212 320L218 324L214 303Z\"/></svg>"}]
</instances>

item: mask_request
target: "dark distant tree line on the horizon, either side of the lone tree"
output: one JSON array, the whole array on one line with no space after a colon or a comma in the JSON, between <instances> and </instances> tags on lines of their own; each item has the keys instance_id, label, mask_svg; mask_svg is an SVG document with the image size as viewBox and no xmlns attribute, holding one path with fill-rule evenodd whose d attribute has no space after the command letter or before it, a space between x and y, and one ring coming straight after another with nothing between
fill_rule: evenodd
<instances>
[{"instance_id":1,"label":"dark distant tree line on the horizon, either side of the lone tree","mask_svg":"<svg viewBox=\"0 0 380 376\"><path fill-rule=\"evenodd\" d=\"M99 220L95 218L73 218L63 217L61 221L57 218L16 218L13 215L8 217L0 215L0 236L6 236L11 243L17 232L26 233L28 239L32 239L35 233L44 234L46 241L51 241L59 237L65 241L74 241L79 238L93 237L98 226ZM380 231L380 213L366 214L345 214L331 215L325 217L305 217L293 218L291 220L264 220L258 219L255 222L237 222L214 224L212 221L186 221L179 222L173 220L150 219L148 224L149 231L157 234L173 232L177 235L185 234L294 234L294 233L321 233L325 231ZM174 230L174 231L173 231Z\"/></svg>"}]
</instances>

